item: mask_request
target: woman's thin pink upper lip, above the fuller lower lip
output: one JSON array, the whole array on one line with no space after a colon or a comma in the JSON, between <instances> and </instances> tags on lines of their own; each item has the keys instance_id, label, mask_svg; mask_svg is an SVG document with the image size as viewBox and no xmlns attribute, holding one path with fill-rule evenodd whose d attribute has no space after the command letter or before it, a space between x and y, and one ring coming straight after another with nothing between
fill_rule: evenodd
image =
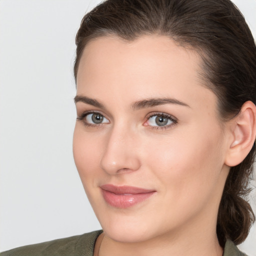
<instances>
[{"instance_id":1,"label":"woman's thin pink upper lip, above the fuller lower lip","mask_svg":"<svg viewBox=\"0 0 256 256\"><path fill-rule=\"evenodd\" d=\"M154 189L145 189L135 186L117 186L113 184L104 184L100 186L101 189L107 190L115 194L139 194L139 193L149 193L155 191Z\"/></svg>"}]
</instances>

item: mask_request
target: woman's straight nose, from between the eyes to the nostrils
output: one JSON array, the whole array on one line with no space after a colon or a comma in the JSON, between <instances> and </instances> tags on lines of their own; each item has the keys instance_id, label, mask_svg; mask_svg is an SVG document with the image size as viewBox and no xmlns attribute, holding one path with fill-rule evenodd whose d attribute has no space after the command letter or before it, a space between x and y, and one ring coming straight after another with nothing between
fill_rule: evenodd
<instances>
[{"instance_id":1,"label":"woman's straight nose, from between the eyes to the nostrils","mask_svg":"<svg viewBox=\"0 0 256 256\"><path fill-rule=\"evenodd\" d=\"M135 171L140 167L139 150L135 132L113 127L107 134L101 168L110 175Z\"/></svg>"}]
</instances>

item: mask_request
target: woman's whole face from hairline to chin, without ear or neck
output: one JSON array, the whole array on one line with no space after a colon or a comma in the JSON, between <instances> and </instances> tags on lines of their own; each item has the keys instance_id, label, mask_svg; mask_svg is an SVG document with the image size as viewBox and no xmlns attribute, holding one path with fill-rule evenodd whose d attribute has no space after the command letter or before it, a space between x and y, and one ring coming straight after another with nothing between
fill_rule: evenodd
<instances>
[{"instance_id":1,"label":"woman's whole face from hairline to chin, without ear or neck","mask_svg":"<svg viewBox=\"0 0 256 256\"><path fill-rule=\"evenodd\" d=\"M215 232L228 132L199 65L195 51L164 36L102 37L83 51L74 160L116 241Z\"/></svg>"}]
</instances>

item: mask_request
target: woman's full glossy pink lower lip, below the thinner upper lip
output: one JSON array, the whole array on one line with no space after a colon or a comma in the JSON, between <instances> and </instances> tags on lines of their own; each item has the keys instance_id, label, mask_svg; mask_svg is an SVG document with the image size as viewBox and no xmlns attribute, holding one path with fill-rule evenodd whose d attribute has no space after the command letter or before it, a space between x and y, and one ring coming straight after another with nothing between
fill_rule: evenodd
<instances>
[{"instance_id":1,"label":"woman's full glossy pink lower lip, below the thinner upper lip","mask_svg":"<svg viewBox=\"0 0 256 256\"><path fill-rule=\"evenodd\" d=\"M155 191L137 194L115 194L101 189L105 201L113 207L128 208L149 198Z\"/></svg>"}]
</instances>

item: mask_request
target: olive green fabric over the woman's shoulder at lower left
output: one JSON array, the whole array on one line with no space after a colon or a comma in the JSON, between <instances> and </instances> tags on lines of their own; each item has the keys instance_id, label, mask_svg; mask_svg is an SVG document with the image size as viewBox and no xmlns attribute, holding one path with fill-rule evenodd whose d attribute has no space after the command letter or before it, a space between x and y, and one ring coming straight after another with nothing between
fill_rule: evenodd
<instances>
[{"instance_id":1,"label":"olive green fabric over the woman's shoulder at lower left","mask_svg":"<svg viewBox=\"0 0 256 256\"><path fill-rule=\"evenodd\" d=\"M98 235L102 230L41 242L0 253L0 256L92 256Z\"/></svg>"}]
</instances>

